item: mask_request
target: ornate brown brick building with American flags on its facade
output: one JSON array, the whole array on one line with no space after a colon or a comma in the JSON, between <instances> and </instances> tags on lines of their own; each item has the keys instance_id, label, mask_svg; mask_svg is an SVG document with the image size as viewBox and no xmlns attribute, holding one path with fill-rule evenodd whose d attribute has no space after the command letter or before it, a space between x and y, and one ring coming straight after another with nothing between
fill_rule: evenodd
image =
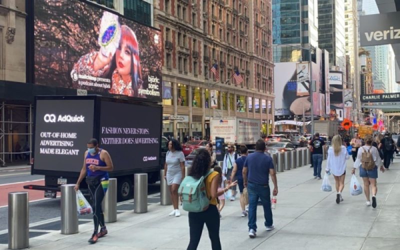
<instances>
[{"instance_id":1,"label":"ornate brown brick building with American flags on its facade","mask_svg":"<svg viewBox=\"0 0 400 250\"><path fill-rule=\"evenodd\" d=\"M227 116L260 119L263 133L273 131L269 0L157 0L154 26L162 32L163 88L170 92L164 135L209 136L210 118Z\"/></svg>"}]
</instances>

